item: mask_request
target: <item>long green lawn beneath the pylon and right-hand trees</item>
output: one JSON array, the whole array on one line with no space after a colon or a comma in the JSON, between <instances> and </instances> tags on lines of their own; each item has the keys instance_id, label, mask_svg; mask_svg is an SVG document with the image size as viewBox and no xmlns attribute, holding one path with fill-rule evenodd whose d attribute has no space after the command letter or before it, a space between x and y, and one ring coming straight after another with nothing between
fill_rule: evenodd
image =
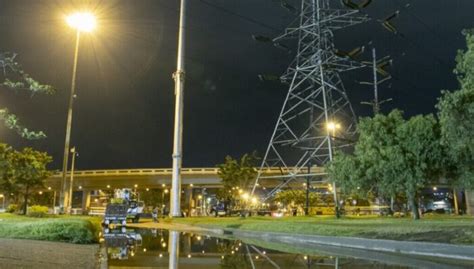
<instances>
[{"instance_id":1,"label":"long green lawn beneath the pylon and right-hand trees","mask_svg":"<svg viewBox=\"0 0 474 269\"><path fill-rule=\"evenodd\" d=\"M474 218L462 216L429 216L418 221L390 217L334 219L329 216L245 219L195 217L168 221L208 228L474 245Z\"/></svg>"}]
</instances>

